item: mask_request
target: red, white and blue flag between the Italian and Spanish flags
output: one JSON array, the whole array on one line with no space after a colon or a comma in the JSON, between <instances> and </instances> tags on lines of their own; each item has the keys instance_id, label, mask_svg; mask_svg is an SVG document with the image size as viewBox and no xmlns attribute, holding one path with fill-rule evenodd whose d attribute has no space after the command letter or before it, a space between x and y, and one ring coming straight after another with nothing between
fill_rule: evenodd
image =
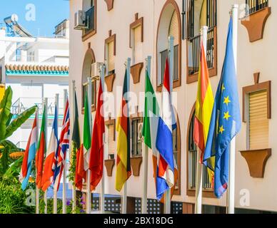
<instances>
[{"instance_id":1,"label":"red, white and blue flag between the Italian and Spanish flags","mask_svg":"<svg viewBox=\"0 0 277 228\"><path fill-rule=\"evenodd\" d=\"M158 149L156 195L157 199L163 197L164 192L174 186L174 164L172 130L175 127L175 118L171 105L171 78L169 76L168 59L163 77L162 109L158 118L158 131L156 148Z\"/></svg>"}]
</instances>

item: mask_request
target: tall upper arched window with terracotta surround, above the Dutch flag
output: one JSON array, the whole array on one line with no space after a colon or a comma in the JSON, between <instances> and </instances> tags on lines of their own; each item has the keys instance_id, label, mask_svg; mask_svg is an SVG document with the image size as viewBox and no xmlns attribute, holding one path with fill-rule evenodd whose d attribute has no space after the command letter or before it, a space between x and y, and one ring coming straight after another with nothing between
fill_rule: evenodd
<instances>
[{"instance_id":1,"label":"tall upper arched window with terracotta surround, above the Dutch flag","mask_svg":"<svg viewBox=\"0 0 277 228\"><path fill-rule=\"evenodd\" d=\"M167 0L158 21L156 38L156 86L161 91L163 73L168 56L168 36L173 36L173 88L181 86L181 16L178 4L174 0Z\"/></svg>"}]
</instances>

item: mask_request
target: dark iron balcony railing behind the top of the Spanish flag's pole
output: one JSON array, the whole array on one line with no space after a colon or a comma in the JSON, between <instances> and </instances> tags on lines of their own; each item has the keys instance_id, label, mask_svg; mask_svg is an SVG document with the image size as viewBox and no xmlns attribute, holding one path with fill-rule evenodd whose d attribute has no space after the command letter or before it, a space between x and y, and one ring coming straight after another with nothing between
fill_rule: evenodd
<instances>
[{"instance_id":1,"label":"dark iron balcony railing behind the top of the Spanish flag's pole","mask_svg":"<svg viewBox=\"0 0 277 228\"><path fill-rule=\"evenodd\" d=\"M207 65L208 68L213 68L214 67L214 45L215 45L215 27L210 28L208 30L207 34L207 55L206 55L206 60L207 60ZM193 38L190 38L190 46L188 48L188 58L189 58L189 63L188 63L188 74L193 75L195 73L198 73L199 71L199 65L200 65L200 52L201 52L201 46L200 46L200 41L201 41L201 36L194 36Z\"/></svg>"}]
</instances>

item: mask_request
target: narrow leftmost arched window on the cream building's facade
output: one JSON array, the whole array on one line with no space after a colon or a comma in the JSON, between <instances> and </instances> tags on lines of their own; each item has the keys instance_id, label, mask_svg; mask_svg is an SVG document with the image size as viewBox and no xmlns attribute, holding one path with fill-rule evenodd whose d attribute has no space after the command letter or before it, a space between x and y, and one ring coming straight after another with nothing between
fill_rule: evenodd
<instances>
[{"instance_id":1,"label":"narrow leftmost arched window on the cream building's facade","mask_svg":"<svg viewBox=\"0 0 277 228\"><path fill-rule=\"evenodd\" d=\"M91 77L91 64L95 63L94 51L89 48L86 51L82 70L82 108L84 108L85 95L88 90L88 77ZM91 85L91 110L96 109L96 81Z\"/></svg>"}]
</instances>

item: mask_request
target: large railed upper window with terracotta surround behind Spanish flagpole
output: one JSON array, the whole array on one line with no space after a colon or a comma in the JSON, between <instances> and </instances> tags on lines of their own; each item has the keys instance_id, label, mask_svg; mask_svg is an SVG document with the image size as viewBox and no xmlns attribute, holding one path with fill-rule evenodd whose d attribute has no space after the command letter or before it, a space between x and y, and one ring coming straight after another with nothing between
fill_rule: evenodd
<instances>
[{"instance_id":1,"label":"large railed upper window with terracotta surround behind Spanish flagpole","mask_svg":"<svg viewBox=\"0 0 277 228\"><path fill-rule=\"evenodd\" d=\"M187 83L198 80L202 26L208 26L206 59L209 74L217 74L216 3L216 0L188 1Z\"/></svg>"}]
</instances>

